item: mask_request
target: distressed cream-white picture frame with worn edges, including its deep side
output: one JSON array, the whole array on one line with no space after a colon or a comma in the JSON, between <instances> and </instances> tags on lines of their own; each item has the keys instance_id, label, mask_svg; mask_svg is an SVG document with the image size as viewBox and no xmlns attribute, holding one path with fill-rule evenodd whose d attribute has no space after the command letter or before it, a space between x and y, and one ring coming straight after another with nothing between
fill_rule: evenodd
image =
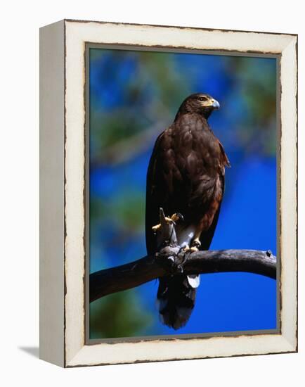
<instances>
[{"instance_id":1,"label":"distressed cream-white picture frame with worn edges, including its deep side","mask_svg":"<svg viewBox=\"0 0 305 387\"><path fill-rule=\"evenodd\" d=\"M86 43L274 54L280 330L86 343ZM40 31L40 357L61 367L297 351L297 35L62 20Z\"/></svg>"}]
</instances>

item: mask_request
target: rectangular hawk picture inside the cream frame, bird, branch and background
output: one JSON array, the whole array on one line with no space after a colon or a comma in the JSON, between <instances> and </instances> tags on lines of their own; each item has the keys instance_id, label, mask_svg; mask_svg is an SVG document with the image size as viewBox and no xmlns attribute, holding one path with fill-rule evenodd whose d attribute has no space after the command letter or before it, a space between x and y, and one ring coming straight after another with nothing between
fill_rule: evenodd
<instances>
[{"instance_id":1,"label":"rectangular hawk picture inside the cream frame, bird, branch and background","mask_svg":"<svg viewBox=\"0 0 305 387\"><path fill-rule=\"evenodd\" d=\"M277 58L86 51L89 339L277 331Z\"/></svg>"}]
</instances>

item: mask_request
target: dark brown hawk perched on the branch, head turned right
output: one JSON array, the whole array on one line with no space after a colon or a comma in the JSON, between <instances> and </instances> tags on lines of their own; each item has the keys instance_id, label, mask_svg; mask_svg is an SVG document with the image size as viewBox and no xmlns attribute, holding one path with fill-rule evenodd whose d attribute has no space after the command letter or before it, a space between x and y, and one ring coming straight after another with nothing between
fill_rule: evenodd
<instances>
[{"instance_id":1,"label":"dark brown hawk perched on the branch, head turned right","mask_svg":"<svg viewBox=\"0 0 305 387\"><path fill-rule=\"evenodd\" d=\"M219 102L208 94L192 94L181 104L174 122L157 137L148 165L145 234L148 254L157 252L160 208L176 223L184 250L208 250L219 218L224 191L224 148L207 122ZM182 216L181 216L181 215ZM159 279L157 303L163 324L186 325L195 305L199 275Z\"/></svg>"}]
</instances>

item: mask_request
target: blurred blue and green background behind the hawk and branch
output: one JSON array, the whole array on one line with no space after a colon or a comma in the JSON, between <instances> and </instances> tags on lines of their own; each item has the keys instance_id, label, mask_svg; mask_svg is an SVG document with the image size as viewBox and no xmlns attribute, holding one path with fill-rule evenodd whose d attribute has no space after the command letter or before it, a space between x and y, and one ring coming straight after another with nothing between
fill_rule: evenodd
<instances>
[{"instance_id":1,"label":"blurred blue and green background behind the hawk and branch","mask_svg":"<svg viewBox=\"0 0 305 387\"><path fill-rule=\"evenodd\" d=\"M189 94L211 94L209 118L231 168L212 249L276 254L275 58L90 49L90 272L145 250L145 179L157 135ZM160 323L157 281L90 305L90 338L276 328L276 281L257 274L201 276L188 324Z\"/></svg>"}]
</instances>

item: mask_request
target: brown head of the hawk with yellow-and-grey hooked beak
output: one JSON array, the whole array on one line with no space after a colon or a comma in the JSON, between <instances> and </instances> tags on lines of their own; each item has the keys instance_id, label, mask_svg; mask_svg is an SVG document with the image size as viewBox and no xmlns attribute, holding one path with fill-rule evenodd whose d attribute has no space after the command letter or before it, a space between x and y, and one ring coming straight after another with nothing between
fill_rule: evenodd
<instances>
[{"instance_id":1,"label":"brown head of the hawk with yellow-and-grey hooked beak","mask_svg":"<svg viewBox=\"0 0 305 387\"><path fill-rule=\"evenodd\" d=\"M191 94L179 108L179 113L197 113L209 118L213 110L219 109L219 102L209 94Z\"/></svg>"}]
</instances>

